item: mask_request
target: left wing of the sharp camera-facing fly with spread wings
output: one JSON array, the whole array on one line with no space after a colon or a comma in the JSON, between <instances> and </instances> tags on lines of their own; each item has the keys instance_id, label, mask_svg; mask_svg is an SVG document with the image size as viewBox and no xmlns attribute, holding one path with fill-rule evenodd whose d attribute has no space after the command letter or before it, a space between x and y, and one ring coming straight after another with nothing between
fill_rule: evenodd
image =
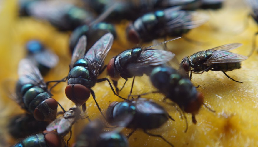
<instances>
[{"instance_id":1,"label":"left wing of the sharp camera-facing fly with spread wings","mask_svg":"<svg viewBox=\"0 0 258 147\"><path fill-rule=\"evenodd\" d=\"M79 39L77 45L75 46L71 63L70 63L70 69L73 68L74 63L83 58L85 51L86 51L86 46L87 46L87 37L85 35L81 36Z\"/></svg>"}]
</instances>

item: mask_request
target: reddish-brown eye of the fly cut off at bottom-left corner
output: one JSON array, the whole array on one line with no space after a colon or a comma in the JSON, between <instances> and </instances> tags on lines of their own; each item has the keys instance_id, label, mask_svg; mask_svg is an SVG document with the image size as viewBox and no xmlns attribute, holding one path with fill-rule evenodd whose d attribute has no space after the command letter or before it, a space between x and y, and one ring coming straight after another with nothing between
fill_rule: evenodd
<instances>
[{"instance_id":1,"label":"reddish-brown eye of the fly cut off at bottom-left corner","mask_svg":"<svg viewBox=\"0 0 258 147\"><path fill-rule=\"evenodd\" d=\"M62 146L61 138L56 131L43 131L45 134L45 141L49 147Z\"/></svg>"}]
</instances>

